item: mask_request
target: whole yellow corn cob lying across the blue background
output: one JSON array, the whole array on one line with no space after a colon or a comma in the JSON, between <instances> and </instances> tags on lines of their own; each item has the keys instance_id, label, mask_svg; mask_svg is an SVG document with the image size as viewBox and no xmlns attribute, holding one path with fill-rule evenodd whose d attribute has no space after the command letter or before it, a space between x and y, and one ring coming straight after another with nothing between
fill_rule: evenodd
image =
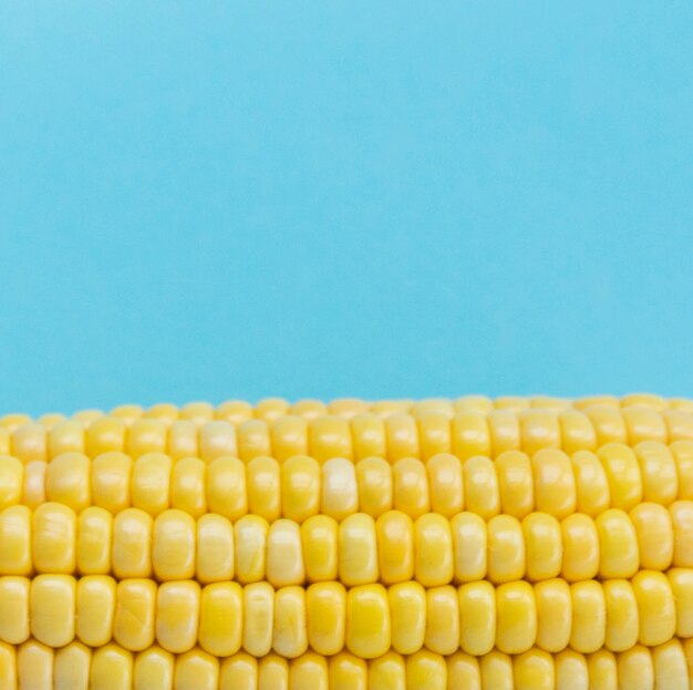
<instances>
[{"instance_id":1,"label":"whole yellow corn cob lying across the blue background","mask_svg":"<svg viewBox=\"0 0 693 690\"><path fill-rule=\"evenodd\" d=\"M0 689L692 687L693 403L0 420Z\"/></svg>"}]
</instances>

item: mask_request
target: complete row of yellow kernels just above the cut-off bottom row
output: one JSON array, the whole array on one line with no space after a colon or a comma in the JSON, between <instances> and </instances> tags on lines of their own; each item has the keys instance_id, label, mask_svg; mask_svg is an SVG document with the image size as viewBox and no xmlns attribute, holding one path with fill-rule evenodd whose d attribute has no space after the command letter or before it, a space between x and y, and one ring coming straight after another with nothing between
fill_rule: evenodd
<instances>
[{"instance_id":1,"label":"complete row of yellow kernels just above the cut-off bottom row","mask_svg":"<svg viewBox=\"0 0 693 690\"><path fill-rule=\"evenodd\" d=\"M228 657L241 648L293 659L309 648L323 656L348 649L373 659L390 649L411 655L457 650L482 656L496 648L532 647L592 653L655 647L693 637L693 570L640 570L631 580L562 579L494 587L488 581L424 588L417 583L317 583L275 589L193 580L157 585L107 576L38 575L0 578L0 640L33 636L60 648L77 639L90 647L115 641L139 651L156 641L182 653L201 647Z\"/></svg>"}]
</instances>

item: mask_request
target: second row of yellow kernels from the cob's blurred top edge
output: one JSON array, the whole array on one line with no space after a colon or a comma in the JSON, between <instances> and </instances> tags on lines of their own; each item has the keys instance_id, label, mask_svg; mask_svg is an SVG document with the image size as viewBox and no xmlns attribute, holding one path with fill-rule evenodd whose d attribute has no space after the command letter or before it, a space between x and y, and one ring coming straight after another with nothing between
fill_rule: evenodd
<instances>
[{"instance_id":1,"label":"second row of yellow kernels from the cob's blurred top edge","mask_svg":"<svg viewBox=\"0 0 693 690\"><path fill-rule=\"evenodd\" d=\"M201 426L192 421L166 424L158 419L141 419L128 426L120 418L103 416L89 424L72 420L50 428L32 422L11 431L0 426L0 453L24 462L50 460L65 452L94 457L108 451L127 452L134 457L161 452L174 459L199 456L206 461L219 455L244 461L272 455L282 461L304 454L321 462L372 455L395 461L426 460L448 452L462 459L497 456L508 450L531 455L547 447L573 453L593 451L606 443L635 445L641 441L671 443L686 439L693 439L693 411L660 412L643 406L461 412L453 418L439 412L417 416L397 413L385 419L372 413L351 419L329 415L312 421L292 415L272 422L252 419L238 426L227 421Z\"/></svg>"}]
</instances>

